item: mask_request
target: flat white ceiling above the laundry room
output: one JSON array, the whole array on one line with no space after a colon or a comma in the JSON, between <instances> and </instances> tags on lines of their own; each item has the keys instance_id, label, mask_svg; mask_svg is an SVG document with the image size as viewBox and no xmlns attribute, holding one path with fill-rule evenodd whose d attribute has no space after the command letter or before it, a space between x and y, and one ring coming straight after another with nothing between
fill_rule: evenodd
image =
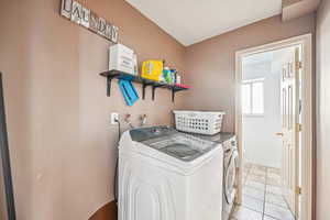
<instances>
[{"instance_id":1,"label":"flat white ceiling above the laundry room","mask_svg":"<svg viewBox=\"0 0 330 220\"><path fill-rule=\"evenodd\" d=\"M125 1L185 46L282 11L282 0Z\"/></svg>"}]
</instances>

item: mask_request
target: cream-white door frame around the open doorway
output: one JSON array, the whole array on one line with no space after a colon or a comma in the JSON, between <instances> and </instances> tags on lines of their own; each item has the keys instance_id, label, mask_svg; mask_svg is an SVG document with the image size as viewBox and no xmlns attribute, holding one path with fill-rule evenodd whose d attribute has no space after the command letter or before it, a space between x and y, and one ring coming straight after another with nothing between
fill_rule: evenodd
<instances>
[{"instance_id":1,"label":"cream-white door frame around the open doorway","mask_svg":"<svg viewBox=\"0 0 330 220\"><path fill-rule=\"evenodd\" d=\"M235 52L235 134L238 136L239 157L243 160L242 147L242 110L241 110L241 81L242 81L242 59L245 56L280 50L290 46L301 45L301 195L299 220L312 220L314 217L314 51L312 34L305 34L287 40L264 44L251 48ZM240 163L239 189L237 202L242 201L242 168Z\"/></svg>"}]
</instances>

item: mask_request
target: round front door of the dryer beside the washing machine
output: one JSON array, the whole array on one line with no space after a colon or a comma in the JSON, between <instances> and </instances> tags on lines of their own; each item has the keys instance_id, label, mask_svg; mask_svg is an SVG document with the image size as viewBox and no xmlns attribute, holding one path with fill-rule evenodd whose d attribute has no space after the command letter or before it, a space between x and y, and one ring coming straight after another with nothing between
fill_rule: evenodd
<instances>
[{"instance_id":1,"label":"round front door of the dryer beside the washing machine","mask_svg":"<svg viewBox=\"0 0 330 220\"><path fill-rule=\"evenodd\" d=\"M226 201L231 205L235 197L237 184L237 167L238 167L239 153L234 150L230 156L227 169L224 170L224 197Z\"/></svg>"}]
</instances>

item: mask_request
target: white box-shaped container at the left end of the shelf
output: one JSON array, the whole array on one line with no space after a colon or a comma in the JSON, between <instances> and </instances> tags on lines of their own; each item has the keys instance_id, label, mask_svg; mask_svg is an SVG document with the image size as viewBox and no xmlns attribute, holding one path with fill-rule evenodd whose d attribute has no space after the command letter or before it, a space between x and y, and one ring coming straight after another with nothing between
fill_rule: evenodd
<instances>
[{"instance_id":1,"label":"white box-shaped container at the left end of the shelf","mask_svg":"<svg viewBox=\"0 0 330 220\"><path fill-rule=\"evenodd\" d=\"M134 74L134 52L122 45L114 44L109 48L109 70Z\"/></svg>"}]
</instances>

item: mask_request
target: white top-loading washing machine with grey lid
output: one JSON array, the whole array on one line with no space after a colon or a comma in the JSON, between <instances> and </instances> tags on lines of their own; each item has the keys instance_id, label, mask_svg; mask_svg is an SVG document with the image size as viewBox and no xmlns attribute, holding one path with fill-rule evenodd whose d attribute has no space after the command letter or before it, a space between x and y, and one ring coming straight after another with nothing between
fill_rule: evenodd
<instances>
[{"instance_id":1,"label":"white top-loading washing machine with grey lid","mask_svg":"<svg viewBox=\"0 0 330 220\"><path fill-rule=\"evenodd\" d=\"M220 220L222 166L219 143L168 127L123 133L119 220Z\"/></svg>"}]
</instances>

